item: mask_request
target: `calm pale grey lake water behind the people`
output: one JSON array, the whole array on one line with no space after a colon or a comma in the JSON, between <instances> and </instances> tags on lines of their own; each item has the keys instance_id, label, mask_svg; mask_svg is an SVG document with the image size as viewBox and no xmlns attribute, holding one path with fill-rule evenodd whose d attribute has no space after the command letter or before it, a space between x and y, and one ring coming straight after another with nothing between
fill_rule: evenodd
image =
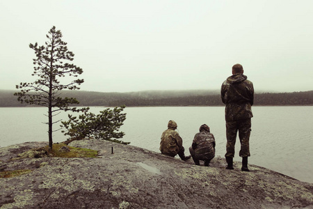
<instances>
[{"instance_id":1,"label":"calm pale grey lake water behind the people","mask_svg":"<svg viewBox=\"0 0 313 209\"><path fill-rule=\"evenodd\" d=\"M104 107L91 107L95 114ZM188 153L188 147L200 125L206 123L216 139L216 155L225 155L224 107L127 107L127 119L121 129L123 141L132 146L159 151L161 133L169 120L178 125L178 132ZM249 164L266 167L298 180L313 183L313 107L252 107L252 132ZM47 109L43 107L1 107L0 146L26 141L48 141ZM67 113L55 120L67 121ZM54 125L58 128L60 123ZM65 141L61 131L54 132L54 142ZM237 140L234 160L239 157Z\"/></svg>"}]
</instances>

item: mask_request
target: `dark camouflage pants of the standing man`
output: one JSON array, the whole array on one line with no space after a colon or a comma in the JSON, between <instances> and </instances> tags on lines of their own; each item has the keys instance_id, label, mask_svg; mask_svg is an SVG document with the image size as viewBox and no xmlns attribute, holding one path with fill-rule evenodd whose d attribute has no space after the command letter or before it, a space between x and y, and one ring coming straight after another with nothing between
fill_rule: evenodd
<instances>
[{"instance_id":1,"label":"dark camouflage pants of the standing man","mask_svg":"<svg viewBox=\"0 0 313 209\"><path fill-rule=\"evenodd\" d=\"M226 154L225 157L234 157L234 147L236 144L236 135L239 132L241 149L240 157L249 157L249 138L251 132L251 118L239 121L226 121Z\"/></svg>"}]
</instances>

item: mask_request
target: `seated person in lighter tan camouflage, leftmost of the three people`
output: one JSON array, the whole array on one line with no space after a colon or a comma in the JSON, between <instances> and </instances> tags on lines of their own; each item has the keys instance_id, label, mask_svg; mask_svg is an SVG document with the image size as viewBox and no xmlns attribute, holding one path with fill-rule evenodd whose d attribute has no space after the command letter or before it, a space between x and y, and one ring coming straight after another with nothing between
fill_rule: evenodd
<instances>
[{"instance_id":1,"label":"seated person in lighter tan camouflage, leftmost of the three people","mask_svg":"<svg viewBox=\"0 0 313 209\"><path fill-rule=\"evenodd\" d=\"M175 131L176 128L177 123L175 123L175 121L168 121L168 129L165 130L161 136L161 153L171 157L175 157L178 154L182 160L188 160L191 156L185 156L182 138L179 136L178 132Z\"/></svg>"}]
</instances>

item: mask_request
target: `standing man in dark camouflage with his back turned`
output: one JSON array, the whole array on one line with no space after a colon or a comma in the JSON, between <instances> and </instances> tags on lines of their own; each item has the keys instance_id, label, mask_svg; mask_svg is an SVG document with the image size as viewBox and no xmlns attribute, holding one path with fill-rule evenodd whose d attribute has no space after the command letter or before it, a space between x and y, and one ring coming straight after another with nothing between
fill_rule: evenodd
<instances>
[{"instance_id":1,"label":"standing man in dark camouflage with his back turned","mask_svg":"<svg viewBox=\"0 0 313 209\"><path fill-rule=\"evenodd\" d=\"M249 138L251 131L251 118L254 89L246 75L243 75L243 67L240 64L232 66L232 76L227 77L220 89L222 101L226 104L226 169L234 169L232 166L236 134L239 132L242 157L241 171L249 171L248 157L250 156Z\"/></svg>"}]
</instances>

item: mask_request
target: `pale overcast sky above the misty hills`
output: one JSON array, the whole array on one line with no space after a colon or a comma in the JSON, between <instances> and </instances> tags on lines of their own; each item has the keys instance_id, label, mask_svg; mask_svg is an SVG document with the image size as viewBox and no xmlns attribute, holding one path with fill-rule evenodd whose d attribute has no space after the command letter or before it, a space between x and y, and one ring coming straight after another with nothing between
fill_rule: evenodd
<instances>
[{"instance_id":1,"label":"pale overcast sky above the misty hills","mask_svg":"<svg viewBox=\"0 0 313 209\"><path fill-rule=\"evenodd\" d=\"M34 82L61 30L83 91L220 89L241 63L255 91L313 90L313 1L0 0L0 89Z\"/></svg>"}]
</instances>

